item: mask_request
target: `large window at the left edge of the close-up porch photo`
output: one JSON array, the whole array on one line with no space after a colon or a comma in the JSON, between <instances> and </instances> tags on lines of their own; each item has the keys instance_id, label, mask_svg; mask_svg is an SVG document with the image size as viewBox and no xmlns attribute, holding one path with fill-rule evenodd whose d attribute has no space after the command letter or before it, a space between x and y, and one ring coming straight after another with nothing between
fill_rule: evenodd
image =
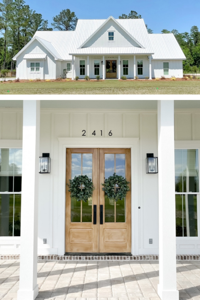
<instances>
[{"instance_id":1,"label":"large window at the left edge of the close-up porch photo","mask_svg":"<svg viewBox=\"0 0 200 300\"><path fill-rule=\"evenodd\" d=\"M20 236L22 149L0 149L0 236Z\"/></svg>"}]
</instances>

